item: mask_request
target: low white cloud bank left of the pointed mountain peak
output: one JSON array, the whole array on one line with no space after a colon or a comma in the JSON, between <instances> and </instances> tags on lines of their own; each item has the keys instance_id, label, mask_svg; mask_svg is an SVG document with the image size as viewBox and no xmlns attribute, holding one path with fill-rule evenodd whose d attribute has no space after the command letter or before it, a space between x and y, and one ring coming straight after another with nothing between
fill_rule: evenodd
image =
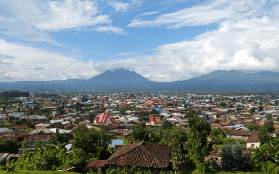
<instances>
[{"instance_id":1,"label":"low white cloud bank left of the pointed mountain peak","mask_svg":"<svg viewBox=\"0 0 279 174\"><path fill-rule=\"evenodd\" d=\"M0 48L1 81L89 79L99 73L95 70L89 71L89 62L56 52L1 39Z\"/></svg>"}]
</instances>

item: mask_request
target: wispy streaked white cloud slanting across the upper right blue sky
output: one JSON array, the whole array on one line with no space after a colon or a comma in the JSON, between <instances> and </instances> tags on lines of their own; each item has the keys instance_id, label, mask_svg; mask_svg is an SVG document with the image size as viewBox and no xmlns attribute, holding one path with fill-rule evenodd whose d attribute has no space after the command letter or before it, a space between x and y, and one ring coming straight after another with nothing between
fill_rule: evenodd
<instances>
[{"instance_id":1,"label":"wispy streaked white cloud slanting across the upper right blue sky","mask_svg":"<svg viewBox=\"0 0 279 174\"><path fill-rule=\"evenodd\" d=\"M197 6L184 8L176 12L162 14L153 20L136 18L128 24L129 27L181 28L185 26L208 25L221 22L224 19L239 19L262 15L262 3L253 0L215 0Z\"/></svg>"}]
</instances>

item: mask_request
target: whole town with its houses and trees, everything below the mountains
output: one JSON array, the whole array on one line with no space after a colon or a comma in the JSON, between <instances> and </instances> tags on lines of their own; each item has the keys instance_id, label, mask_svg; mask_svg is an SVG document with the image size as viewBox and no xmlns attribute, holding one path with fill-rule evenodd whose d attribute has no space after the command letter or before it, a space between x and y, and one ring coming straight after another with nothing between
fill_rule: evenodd
<instances>
[{"instance_id":1,"label":"whole town with its houses and trees, everything below the mountains","mask_svg":"<svg viewBox=\"0 0 279 174\"><path fill-rule=\"evenodd\" d=\"M7 169L237 172L278 163L257 152L271 153L271 146L278 153L278 95L10 93L0 107L0 164ZM241 164L228 157L234 148Z\"/></svg>"}]
</instances>

